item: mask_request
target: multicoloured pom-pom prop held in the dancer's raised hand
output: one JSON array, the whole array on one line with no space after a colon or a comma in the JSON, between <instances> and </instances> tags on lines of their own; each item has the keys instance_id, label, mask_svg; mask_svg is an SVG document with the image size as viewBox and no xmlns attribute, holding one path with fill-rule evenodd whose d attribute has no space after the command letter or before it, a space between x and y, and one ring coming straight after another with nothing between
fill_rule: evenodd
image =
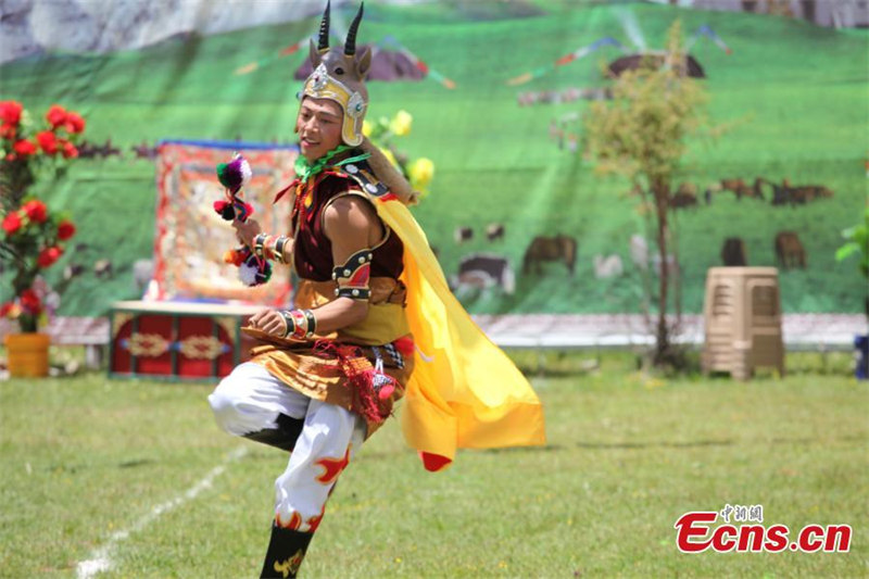
<instances>
[{"instance_id":1,"label":"multicoloured pom-pom prop held in the dancer's raised hand","mask_svg":"<svg viewBox=\"0 0 869 579\"><path fill-rule=\"evenodd\" d=\"M217 180L226 190L226 199L214 202L214 211L223 219L242 223L253 215L253 206L245 203L241 188L251 180L253 172L248 160L236 153L229 163L217 165ZM245 286L260 286L272 277L272 264L255 255L250 248L242 246L224 254L224 261L238 267L238 276Z\"/></svg>"}]
</instances>

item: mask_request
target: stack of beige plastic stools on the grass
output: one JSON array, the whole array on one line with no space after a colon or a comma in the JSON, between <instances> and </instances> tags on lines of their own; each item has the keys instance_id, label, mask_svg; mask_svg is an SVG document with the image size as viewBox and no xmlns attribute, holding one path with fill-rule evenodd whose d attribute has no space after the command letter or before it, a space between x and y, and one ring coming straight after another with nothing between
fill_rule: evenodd
<instances>
[{"instance_id":1,"label":"stack of beige plastic stools on the grass","mask_svg":"<svg viewBox=\"0 0 869 579\"><path fill-rule=\"evenodd\" d=\"M745 380L757 367L774 367L784 375L778 269L710 267L703 314L704 373Z\"/></svg>"}]
</instances>

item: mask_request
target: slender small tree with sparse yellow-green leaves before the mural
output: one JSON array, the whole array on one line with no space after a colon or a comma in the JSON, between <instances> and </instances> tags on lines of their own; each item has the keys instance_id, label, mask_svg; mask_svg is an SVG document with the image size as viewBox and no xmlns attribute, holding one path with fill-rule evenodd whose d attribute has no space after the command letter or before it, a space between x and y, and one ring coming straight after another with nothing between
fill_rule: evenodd
<instances>
[{"instance_id":1,"label":"slender small tree with sparse yellow-green leaves before the mural","mask_svg":"<svg viewBox=\"0 0 869 579\"><path fill-rule=\"evenodd\" d=\"M673 270L668 263L668 248L675 246L670 198L685 140L705 123L702 111L706 100L704 89L687 75L681 26L676 21L668 32L664 65L648 59L637 70L624 72L613 87L613 100L592 104L584 118L585 142L596 158L597 171L630 179L641 211L653 216L660 259L653 354L656 366L681 361L672 343L680 315L675 323L667 319L671 295L678 306L678 263Z\"/></svg>"}]
</instances>

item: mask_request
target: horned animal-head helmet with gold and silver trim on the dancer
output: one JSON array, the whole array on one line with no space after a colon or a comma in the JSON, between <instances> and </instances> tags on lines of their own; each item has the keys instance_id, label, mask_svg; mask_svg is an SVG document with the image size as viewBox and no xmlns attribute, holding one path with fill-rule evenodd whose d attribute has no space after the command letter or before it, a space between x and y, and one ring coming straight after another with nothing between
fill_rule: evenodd
<instances>
[{"instance_id":1,"label":"horned animal-head helmet with gold and silver trim on the dancer","mask_svg":"<svg viewBox=\"0 0 869 579\"><path fill-rule=\"evenodd\" d=\"M368 110L365 76L371 66L371 52L356 53L356 32L362 22L364 3L350 25L342 50L329 48L329 2L319 25L319 41L311 40L311 64L314 72L305 80L302 98L329 99L343 110L341 140L351 147L362 143L362 123Z\"/></svg>"}]
</instances>

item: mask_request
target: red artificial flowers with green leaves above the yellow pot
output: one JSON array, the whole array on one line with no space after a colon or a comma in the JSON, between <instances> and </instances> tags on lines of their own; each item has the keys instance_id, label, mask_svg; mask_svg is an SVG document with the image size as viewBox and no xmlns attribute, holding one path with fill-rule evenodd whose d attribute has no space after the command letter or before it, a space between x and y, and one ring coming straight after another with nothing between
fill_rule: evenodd
<instances>
[{"instance_id":1,"label":"red artificial flowers with green leaves above the yellow pot","mask_svg":"<svg viewBox=\"0 0 869 579\"><path fill-rule=\"evenodd\" d=\"M17 319L23 332L35 332L46 318L50 290L40 273L64 253L75 224L29 193L46 172L56 176L78 156L75 143L85 119L54 104L36 123L16 101L0 101L0 262L12 276L12 295L0 302L0 316ZM8 287L8 286L7 286Z\"/></svg>"}]
</instances>

